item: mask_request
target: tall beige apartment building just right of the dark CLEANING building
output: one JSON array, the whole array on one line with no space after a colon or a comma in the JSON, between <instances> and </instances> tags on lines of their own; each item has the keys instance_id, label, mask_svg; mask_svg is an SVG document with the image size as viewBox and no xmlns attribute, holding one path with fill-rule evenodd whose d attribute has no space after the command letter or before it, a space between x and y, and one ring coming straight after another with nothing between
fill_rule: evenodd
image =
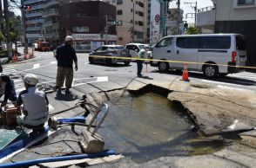
<instances>
[{"instance_id":1,"label":"tall beige apartment building just right of the dark CLEANING building","mask_svg":"<svg viewBox=\"0 0 256 168\"><path fill-rule=\"evenodd\" d=\"M147 0L103 0L117 6L118 44L146 42Z\"/></svg>"}]
</instances>

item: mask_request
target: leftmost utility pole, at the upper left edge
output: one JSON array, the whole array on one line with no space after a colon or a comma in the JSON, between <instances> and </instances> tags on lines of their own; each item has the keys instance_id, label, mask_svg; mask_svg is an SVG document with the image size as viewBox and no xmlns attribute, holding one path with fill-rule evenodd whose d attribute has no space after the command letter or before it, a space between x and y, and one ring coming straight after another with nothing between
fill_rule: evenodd
<instances>
[{"instance_id":1,"label":"leftmost utility pole, at the upper left edge","mask_svg":"<svg viewBox=\"0 0 256 168\"><path fill-rule=\"evenodd\" d=\"M9 21L9 5L7 0L3 0L3 13L5 19L5 27L6 27L6 36L7 36L7 51L9 60L12 59L11 53L11 42L10 42L10 21Z\"/></svg>"}]
</instances>

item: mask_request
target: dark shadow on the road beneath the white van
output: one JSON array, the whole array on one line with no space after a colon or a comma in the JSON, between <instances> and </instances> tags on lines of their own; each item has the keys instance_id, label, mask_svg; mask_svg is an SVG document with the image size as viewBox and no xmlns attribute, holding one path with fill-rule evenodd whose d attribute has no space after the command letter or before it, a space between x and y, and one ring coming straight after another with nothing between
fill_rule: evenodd
<instances>
[{"instance_id":1,"label":"dark shadow on the road beneath the white van","mask_svg":"<svg viewBox=\"0 0 256 168\"><path fill-rule=\"evenodd\" d=\"M158 70L154 70L151 73L158 73L158 74L172 74L172 75L177 75L177 76L182 76L182 71L178 70L178 71L167 71L165 73L162 73ZM189 72L189 77L192 78L198 78L198 79L202 79L202 80L207 80L207 81L219 81L219 82L225 82L225 83L230 83L230 84L237 84L237 85L243 85L243 86L253 86L256 85L256 81L253 80L247 80L247 79L243 79L242 77L233 77L233 76L219 76L217 78L214 79L209 79L206 78L204 74L201 73L197 73L197 72Z\"/></svg>"}]
</instances>

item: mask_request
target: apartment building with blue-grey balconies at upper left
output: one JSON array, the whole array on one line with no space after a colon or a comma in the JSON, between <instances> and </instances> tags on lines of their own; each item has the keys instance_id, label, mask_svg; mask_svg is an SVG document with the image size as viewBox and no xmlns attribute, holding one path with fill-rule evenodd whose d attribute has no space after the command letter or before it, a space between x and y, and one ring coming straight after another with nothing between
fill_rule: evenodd
<instances>
[{"instance_id":1,"label":"apartment building with blue-grey balconies at upper left","mask_svg":"<svg viewBox=\"0 0 256 168\"><path fill-rule=\"evenodd\" d=\"M26 10L24 14L26 25L26 36L28 43L36 42L43 34L42 25L44 23L43 7L45 0L23 0L24 5L30 6L30 11Z\"/></svg>"}]
</instances>

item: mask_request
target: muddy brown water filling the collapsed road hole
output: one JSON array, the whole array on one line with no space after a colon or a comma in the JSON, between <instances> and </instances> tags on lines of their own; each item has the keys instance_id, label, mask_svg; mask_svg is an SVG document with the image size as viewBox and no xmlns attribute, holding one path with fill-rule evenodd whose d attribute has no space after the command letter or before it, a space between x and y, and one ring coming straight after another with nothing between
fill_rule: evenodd
<instances>
[{"instance_id":1,"label":"muddy brown water filling the collapsed road hole","mask_svg":"<svg viewBox=\"0 0 256 168\"><path fill-rule=\"evenodd\" d=\"M184 109L157 94L125 96L106 102L110 113L98 133L105 148L142 163L165 156L190 156L216 152L219 137L204 138L192 132Z\"/></svg>"}]
</instances>

